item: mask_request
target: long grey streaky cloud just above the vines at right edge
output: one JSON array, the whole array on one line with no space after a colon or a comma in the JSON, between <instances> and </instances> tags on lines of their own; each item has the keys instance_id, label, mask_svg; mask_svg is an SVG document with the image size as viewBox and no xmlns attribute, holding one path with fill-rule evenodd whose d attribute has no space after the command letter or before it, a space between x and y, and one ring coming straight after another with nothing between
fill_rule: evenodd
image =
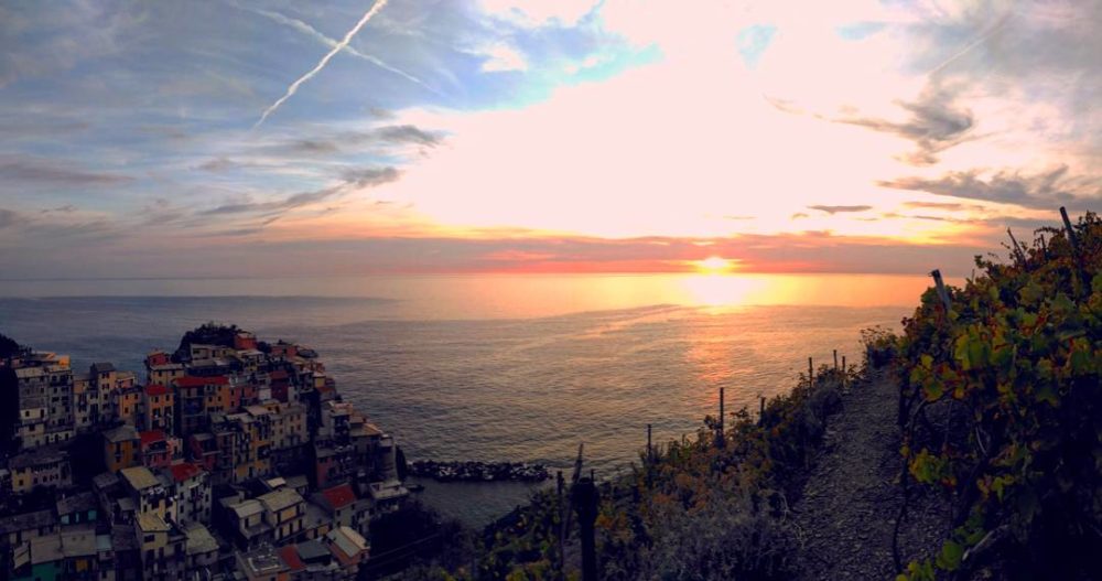
<instances>
[{"instance_id":1,"label":"long grey streaky cloud just above the vines at right edge","mask_svg":"<svg viewBox=\"0 0 1102 581\"><path fill-rule=\"evenodd\" d=\"M1102 179L1069 176L1067 165L1034 175L1004 170L985 177L985 173L988 172L970 170L950 172L932 180L900 177L878 183L896 190L1015 204L1035 209L1054 209L1060 205L1080 207L1088 200L1102 198Z\"/></svg>"}]
</instances>

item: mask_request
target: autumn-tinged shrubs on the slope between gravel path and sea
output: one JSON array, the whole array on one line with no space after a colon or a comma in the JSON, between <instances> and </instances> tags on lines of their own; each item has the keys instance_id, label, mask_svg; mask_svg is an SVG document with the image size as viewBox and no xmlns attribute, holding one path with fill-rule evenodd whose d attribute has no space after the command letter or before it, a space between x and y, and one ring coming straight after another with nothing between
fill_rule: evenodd
<instances>
[{"instance_id":1,"label":"autumn-tinged shrubs on the slope between gravel path and sea","mask_svg":"<svg viewBox=\"0 0 1102 581\"><path fill-rule=\"evenodd\" d=\"M856 378L847 378L850 381ZM604 580L790 579L796 535L789 498L800 489L825 421L840 405L841 372L827 367L768 401L760 419L743 409L705 418L682 441L640 454L630 475L602 485L596 520ZM560 574L555 491L487 530L479 579L544 580ZM576 518L561 569L577 575Z\"/></svg>"}]
</instances>

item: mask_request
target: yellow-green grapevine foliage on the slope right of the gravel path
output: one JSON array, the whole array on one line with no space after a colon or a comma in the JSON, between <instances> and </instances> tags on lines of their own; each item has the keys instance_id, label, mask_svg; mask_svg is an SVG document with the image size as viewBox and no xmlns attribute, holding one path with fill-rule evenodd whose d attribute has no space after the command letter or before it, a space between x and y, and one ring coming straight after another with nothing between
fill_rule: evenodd
<instances>
[{"instance_id":1,"label":"yellow-green grapevine foliage on the slope right of the gravel path","mask_svg":"<svg viewBox=\"0 0 1102 581\"><path fill-rule=\"evenodd\" d=\"M954 519L901 580L1102 578L1102 222L1073 229L1078 252L1038 230L1009 263L977 257L948 311L930 289L904 321L906 476Z\"/></svg>"}]
</instances>

